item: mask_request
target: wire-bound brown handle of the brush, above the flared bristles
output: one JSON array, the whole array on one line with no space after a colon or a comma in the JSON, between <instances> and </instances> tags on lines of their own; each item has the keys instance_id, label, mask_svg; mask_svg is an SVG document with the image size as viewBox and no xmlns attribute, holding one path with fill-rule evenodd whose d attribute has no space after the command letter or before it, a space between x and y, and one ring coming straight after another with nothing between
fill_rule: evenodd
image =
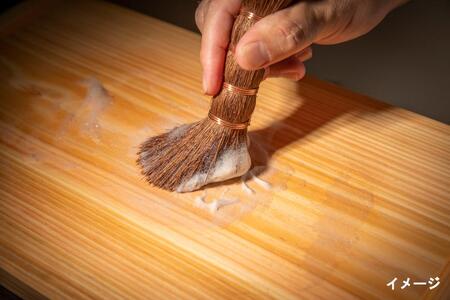
<instances>
[{"instance_id":1,"label":"wire-bound brown handle of the brush, above the flared bristles","mask_svg":"<svg viewBox=\"0 0 450 300\"><path fill-rule=\"evenodd\" d=\"M285 8L290 0L243 0L242 10L265 17ZM256 18L248 18L239 14L233 25L230 44L225 59L224 81L244 89L257 89L264 77L264 69L247 71L236 62L233 50L240 38L257 22ZM229 93L222 89L213 97L210 114L230 123L248 122L256 104L256 95Z\"/></svg>"}]
</instances>

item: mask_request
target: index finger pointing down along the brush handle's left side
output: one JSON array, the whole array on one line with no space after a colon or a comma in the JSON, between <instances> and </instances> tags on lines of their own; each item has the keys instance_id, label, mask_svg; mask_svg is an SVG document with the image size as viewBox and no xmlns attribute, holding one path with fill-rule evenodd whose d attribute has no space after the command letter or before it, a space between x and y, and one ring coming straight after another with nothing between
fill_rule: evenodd
<instances>
[{"instance_id":1,"label":"index finger pointing down along the brush handle's left side","mask_svg":"<svg viewBox=\"0 0 450 300\"><path fill-rule=\"evenodd\" d=\"M225 53L234 16L238 14L240 6L240 0L211 0L208 5L200 50L205 94L215 95L220 89Z\"/></svg>"}]
</instances>

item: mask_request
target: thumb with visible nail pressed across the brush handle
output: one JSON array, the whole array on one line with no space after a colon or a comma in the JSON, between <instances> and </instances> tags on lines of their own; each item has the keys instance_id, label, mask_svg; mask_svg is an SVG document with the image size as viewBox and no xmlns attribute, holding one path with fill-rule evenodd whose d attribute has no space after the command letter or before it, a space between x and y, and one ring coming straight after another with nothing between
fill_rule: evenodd
<instances>
[{"instance_id":1,"label":"thumb with visible nail pressed across the brush handle","mask_svg":"<svg viewBox=\"0 0 450 300\"><path fill-rule=\"evenodd\" d=\"M320 31L317 13L300 2L263 18L236 46L236 61L247 70L282 61L312 44Z\"/></svg>"}]
</instances>

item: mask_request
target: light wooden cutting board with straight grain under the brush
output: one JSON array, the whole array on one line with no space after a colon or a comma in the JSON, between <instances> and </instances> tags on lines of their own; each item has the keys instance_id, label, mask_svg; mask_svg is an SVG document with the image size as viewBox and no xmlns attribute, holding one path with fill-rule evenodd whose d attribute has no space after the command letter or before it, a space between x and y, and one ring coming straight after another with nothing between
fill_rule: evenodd
<instances>
[{"instance_id":1,"label":"light wooden cutting board with straight grain under the brush","mask_svg":"<svg viewBox=\"0 0 450 300\"><path fill-rule=\"evenodd\" d=\"M250 127L260 180L158 190L136 147L206 116L200 36L70 2L2 22L2 285L26 298L449 299L449 126L270 79ZM235 202L210 209L219 198ZM430 277L440 285L413 285Z\"/></svg>"}]
</instances>

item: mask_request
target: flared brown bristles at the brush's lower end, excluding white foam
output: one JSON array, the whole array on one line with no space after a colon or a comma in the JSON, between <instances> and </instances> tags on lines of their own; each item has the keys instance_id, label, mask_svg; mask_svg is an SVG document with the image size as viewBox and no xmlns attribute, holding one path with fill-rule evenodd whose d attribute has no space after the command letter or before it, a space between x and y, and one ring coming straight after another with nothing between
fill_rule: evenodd
<instances>
[{"instance_id":1,"label":"flared brown bristles at the brush's lower end, excluding white foam","mask_svg":"<svg viewBox=\"0 0 450 300\"><path fill-rule=\"evenodd\" d=\"M140 146L137 163L149 183L180 192L183 182L195 174L208 174L218 157L238 151L246 142L246 130L230 130L204 119L149 138Z\"/></svg>"}]
</instances>

